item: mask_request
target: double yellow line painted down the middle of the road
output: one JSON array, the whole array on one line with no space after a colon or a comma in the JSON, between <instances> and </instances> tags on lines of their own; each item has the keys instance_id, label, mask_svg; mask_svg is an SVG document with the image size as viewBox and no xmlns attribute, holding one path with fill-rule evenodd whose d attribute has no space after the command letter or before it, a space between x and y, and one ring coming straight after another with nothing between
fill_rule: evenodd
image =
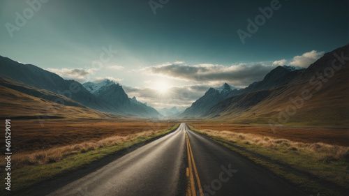
<instances>
[{"instance_id":1,"label":"double yellow line painted down the middle of the road","mask_svg":"<svg viewBox=\"0 0 349 196\"><path fill-rule=\"evenodd\" d=\"M202 192L202 187L201 187L199 175L198 175L198 169L196 169L196 165L195 165L195 161L194 161L193 151L191 151L191 143L189 142L189 137L188 137L187 133L186 133L186 149L188 151L189 176L190 176L190 180L191 180L191 193L192 193L192 195L196 195L195 182L194 182L194 177L193 177L193 168L194 168L196 181L198 182L198 188L200 191L200 196L204 196L204 193ZM193 166L191 163L193 163Z\"/></svg>"}]
</instances>

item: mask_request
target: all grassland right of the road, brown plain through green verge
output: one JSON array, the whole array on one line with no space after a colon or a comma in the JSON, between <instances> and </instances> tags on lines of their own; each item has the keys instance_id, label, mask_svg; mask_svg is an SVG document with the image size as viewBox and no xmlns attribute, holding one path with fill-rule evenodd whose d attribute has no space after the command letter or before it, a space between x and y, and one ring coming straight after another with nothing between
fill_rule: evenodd
<instances>
[{"instance_id":1,"label":"all grassland right of the road, brown plain through green verge","mask_svg":"<svg viewBox=\"0 0 349 196\"><path fill-rule=\"evenodd\" d=\"M348 129L187 122L192 130L268 168L303 190L348 195ZM346 194L341 194L346 193Z\"/></svg>"}]
</instances>

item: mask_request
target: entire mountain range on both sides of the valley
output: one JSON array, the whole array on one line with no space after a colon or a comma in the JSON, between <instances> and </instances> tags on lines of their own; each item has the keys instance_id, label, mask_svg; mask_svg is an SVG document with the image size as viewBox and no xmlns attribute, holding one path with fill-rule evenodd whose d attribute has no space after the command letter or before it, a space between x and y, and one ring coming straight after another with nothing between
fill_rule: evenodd
<instances>
[{"instance_id":1,"label":"entire mountain range on both sides of the valley","mask_svg":"<svg viewBox=\"0 0 349 196\"><path fill-rule=\"evenodd\" d=\"M156 111L111 80L80 84L0 56L1 118L209 119L232 123L345 127L349 123L349 45L325 53L308 68L277 66L244 89L225 83L180 113Z\"/></svg>"}]
</instances>

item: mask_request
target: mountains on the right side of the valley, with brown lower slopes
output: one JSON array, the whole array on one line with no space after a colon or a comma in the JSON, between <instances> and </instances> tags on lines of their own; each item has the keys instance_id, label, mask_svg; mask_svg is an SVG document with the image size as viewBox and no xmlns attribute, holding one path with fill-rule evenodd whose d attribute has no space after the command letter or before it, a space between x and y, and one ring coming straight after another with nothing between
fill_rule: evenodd
<instances>
[{"instance_id":1,"label":"mountains on the right side of the valley, with brown lower slopes","mask_svg":"<svg viewBox=\"0 0 349 196\"><path fill-rule=\"evenodd\" d=\"M269 125L347 126L346 56L349 45L325 53L306 69L278 66L262 81L245 89L230 90L228 98L211 88L181 117Z\"/></svg>"}]
</instances>

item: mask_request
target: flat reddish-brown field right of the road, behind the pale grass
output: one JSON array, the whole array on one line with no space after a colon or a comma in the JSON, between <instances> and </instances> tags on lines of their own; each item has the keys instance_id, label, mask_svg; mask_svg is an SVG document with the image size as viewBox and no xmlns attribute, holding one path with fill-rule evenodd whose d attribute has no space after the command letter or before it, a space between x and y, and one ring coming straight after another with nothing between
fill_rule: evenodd
<instances>
[{"instance_id":1,"label":"flat reddish-brown field right of the road, behind the pale grass","mask_svg":"<svg viewBox=\"0 0 349 196\"><path fill-rule=\"evenodd\" d=\"M297 128L276 127L272 130L269 126L253 124L220 123L205 121L187 121L200 130L229 131L232 133L251 133L256 135L276 137L295 142L335 144L349 146L348 128Z\"/></svg>"}]
</instances>

